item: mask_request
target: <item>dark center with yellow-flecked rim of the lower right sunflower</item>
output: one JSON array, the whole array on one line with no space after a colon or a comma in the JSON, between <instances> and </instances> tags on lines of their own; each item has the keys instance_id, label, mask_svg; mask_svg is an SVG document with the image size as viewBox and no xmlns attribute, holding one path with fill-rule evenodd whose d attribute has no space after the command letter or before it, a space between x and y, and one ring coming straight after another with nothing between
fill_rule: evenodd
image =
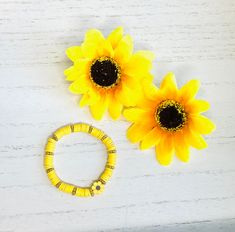
<instances>
[{"instance_id":1,"label":"dark center with yellow-flecked rim of the lower right sunflower","mask_svg":"<svg viewBox=\"0 0 235 232\"><path fill-rule=\"evenodd\" d=\"M165 100L157 106L156 121L162 129L178 131L185 125L186 120L183 106L174 100Z\"/></svg>"}]
</instances>

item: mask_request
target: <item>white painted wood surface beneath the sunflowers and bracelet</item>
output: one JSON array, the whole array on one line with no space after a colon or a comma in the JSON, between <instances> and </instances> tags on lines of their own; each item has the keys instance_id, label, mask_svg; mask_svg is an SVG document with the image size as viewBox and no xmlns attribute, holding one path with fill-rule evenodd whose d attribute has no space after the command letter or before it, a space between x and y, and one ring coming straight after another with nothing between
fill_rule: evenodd
<instances>
[{"instance_id":1,"label":"white painted wood surface beneath the sunflowers and bracelet","mask_svg":"<svg viewBox=\"0 0 235 232\"><path fill-rule=\"evenodd\" d=\"M155 83L174 71L180 85L198 77L199 98L217 124L209 148L191 162L160 166L154 149L128 143L122 118L102 121L77 107L67 90L64 51L88 28L106 35L123 25L135 49L156 53ZM235 231L234 0L1 0L0 231ZM104 194L80 199L50 185L42 167L47 136L88 122L118 147ZM64 180L89 184L103 168L102 144L88 135L60 142Z\"/></svg>"}]
</instances>

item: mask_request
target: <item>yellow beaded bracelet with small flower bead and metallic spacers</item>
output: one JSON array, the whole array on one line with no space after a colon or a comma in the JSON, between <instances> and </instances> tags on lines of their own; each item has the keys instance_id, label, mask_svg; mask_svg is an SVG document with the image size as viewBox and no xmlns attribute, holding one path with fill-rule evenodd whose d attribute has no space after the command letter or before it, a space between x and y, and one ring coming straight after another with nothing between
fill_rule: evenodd
<instances>
[{"instance_id":1,"label":"yellow beaded bracelet with small flower bead and metallic spacers","mask_svg":"<svg viewBox=\"0 0 235 232\"><path fill-rule=\"evenodd\" d=\"M94 137L98 138L106 146L107 149L108 157L105 169L101 173L98 180L93 181L93 183L89 187L79 187L73 184L63 182L56 174L53 165L56 142L61 139L64 135L68 135L73 132L89 133ZM44 168L51 183L59 190L79 197L90 197L103 192L104 185L112 176L113 169L116 164L116 156L116 147L108 135L91 125L85 123L76 123L57 129L52 134L52 136L48 138L45 147Z\"/></svg>"}]
</instances>

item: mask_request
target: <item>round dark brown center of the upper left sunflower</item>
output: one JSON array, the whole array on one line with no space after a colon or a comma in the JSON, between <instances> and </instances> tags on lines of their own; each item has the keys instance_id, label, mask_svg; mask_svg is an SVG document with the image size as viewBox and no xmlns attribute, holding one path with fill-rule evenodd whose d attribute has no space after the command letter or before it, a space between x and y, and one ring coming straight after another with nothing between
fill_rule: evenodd
<instances>
[{"instance_id":1,"label":"round dark brown center of the upper left sunflower","mask_svg":"<svg viewBox=\"0 0 235 232\"><path fill-rule=\"evenodd\" d=\"M120 80L120 68L112 58L100 57L91 64L90 78L99 87L111 88Z\"/></svg>"}]
</instances>

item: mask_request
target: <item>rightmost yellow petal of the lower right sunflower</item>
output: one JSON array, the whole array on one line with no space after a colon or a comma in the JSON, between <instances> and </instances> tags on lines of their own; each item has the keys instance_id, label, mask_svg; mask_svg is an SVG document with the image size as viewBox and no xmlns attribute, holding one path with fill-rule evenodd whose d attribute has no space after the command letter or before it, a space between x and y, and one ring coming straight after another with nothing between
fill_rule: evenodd
<instances>
[{"instance_id":1,"label":"rightmost yellow petal of the lower right sunflower","mask_svg":"<svg viewBox=\"0 0 235 232\"><path fill-rule=\"evenodd\" d=\"M191 116L190 128L201 134L210 134L215 130L215 124L203 115Z\"/></svg>"}]
</instances>

